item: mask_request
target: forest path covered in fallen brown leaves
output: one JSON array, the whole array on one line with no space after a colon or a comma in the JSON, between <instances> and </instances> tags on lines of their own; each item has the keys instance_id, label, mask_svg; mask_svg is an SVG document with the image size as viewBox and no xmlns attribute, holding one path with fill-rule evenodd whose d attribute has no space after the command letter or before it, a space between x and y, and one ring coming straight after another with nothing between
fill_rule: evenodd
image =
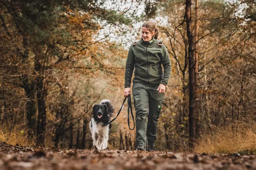
<instances>
[{"instance_id":1,"label":"forest path covered in fallen brown leaves","mask_svg":"<svg viewBox=\"0 0 256 170\"><path fill-rule=\"evenodd\" d=\"M1 170L256 169L256 157L104 150L58 150L0 142Z\"/></svg>"}]
</instances>

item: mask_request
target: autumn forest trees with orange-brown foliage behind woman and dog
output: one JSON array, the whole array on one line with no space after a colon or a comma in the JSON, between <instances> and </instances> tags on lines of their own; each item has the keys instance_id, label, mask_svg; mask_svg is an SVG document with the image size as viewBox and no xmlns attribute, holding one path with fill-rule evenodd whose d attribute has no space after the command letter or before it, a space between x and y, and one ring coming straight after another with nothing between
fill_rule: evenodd
<instances>
[{"instance_id":1,"label":"autumn forest trees with orange-brown foliage behind woman and dog","mask_svg":"<svg viewBox=\"0 0 256 170\"><path fill-rule=\"evenodd\" d=\"M106 98L118 112L127 46L152 20L173 68L157 149L224 152L214 143L228 137L252 143L233 151L256 149L256 1L0 0L0 10L1 141L92 148L92 106ZM136 146L126 112L109 148Z\"/></svg>"}]
</instances>

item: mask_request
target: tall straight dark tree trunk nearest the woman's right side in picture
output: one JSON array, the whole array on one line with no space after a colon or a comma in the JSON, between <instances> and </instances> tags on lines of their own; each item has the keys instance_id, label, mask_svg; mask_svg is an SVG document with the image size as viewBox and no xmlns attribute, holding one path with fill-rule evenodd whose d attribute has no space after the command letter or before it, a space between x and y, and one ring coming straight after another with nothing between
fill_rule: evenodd
<instances>
[{"instance_id":1,"label":"tall straight dark tree trunk nearest the woman's right side in picture","mask_svg":"<svg viewBox=\"0 0 256 170\"><path fill-rule=\"evenodd\" d=\"M191 0L186 0L185 9L187 37L188 37L188 79L189 79L189 148L193 148L195 138L194 112L196 105L196 91L195 83L195 67L194 67L194 42L192 33L192 19L191 19Z\"/></svg>"}]
</instances>

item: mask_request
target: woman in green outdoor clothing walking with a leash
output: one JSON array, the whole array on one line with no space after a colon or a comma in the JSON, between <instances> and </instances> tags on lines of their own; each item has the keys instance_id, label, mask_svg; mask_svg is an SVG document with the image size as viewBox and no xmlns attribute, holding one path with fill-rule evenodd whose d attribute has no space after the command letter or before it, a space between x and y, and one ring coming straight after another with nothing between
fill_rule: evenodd
<instances>
[{"instance_id":1,"label":"woman in green outdoor clothing walking with a leash","mask_svg":"<svg viewBox=\"0 0 256 170\"><path fill-rule=\"evenodd\" d=\"M126 97L131 94L131 77L135 66L132 94L136 111L137 150L142 151L146 150L146 136L148 151L156 151L157 124L166 85L171 75L170 57L166 47L156 40L157 37L156 25L151 21L143 23L141 40L130 46L125 66Z\"/></svg>"}]
</instances>

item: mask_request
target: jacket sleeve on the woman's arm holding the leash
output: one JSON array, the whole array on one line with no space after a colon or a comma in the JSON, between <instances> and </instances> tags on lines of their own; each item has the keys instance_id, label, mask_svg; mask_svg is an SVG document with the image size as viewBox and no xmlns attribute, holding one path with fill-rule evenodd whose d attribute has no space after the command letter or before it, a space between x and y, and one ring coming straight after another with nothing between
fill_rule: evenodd
<instances>
[{"instance_id":1,"label":"jacket sleeve on the woman's arm holding the leash","mask_svg":"<svg viewBox=\"0 0 256 170\"><path fill-rule=\"evenodd\" d=\"M125 88L131 86L131 77L132 77L132 72L135 64L135 56L132 48L133 48L133 45L130 46L127 60L126 60L126 65L125 65Z\"/></svg>"}]
</instances>

